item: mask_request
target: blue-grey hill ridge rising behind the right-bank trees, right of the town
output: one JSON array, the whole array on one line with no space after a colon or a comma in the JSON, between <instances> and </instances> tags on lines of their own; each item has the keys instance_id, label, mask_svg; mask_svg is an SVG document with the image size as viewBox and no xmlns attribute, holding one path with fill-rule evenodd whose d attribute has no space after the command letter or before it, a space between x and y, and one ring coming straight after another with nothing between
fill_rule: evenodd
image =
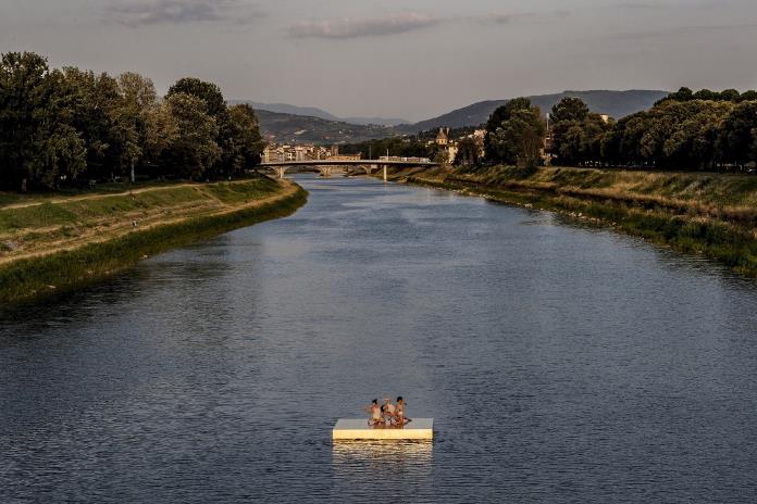
<instances>
[{"instance_id":1,"label":"blue-grey hill ridge rising behind the right-bank trees, right of the town","mask_svg":"<svg viewBox=\"0 0 757 504\"><path fill-rule=\"evenodd\" d=\"M543 113L549 110L564 97L581 98L592 112L608 114L611 117L620 118L626 115L650 109L656 101L665 98L669 91L563 91L555 94L541 94L529 97L534 105L542 109ZM488 100L473 103L472 105L449 112L447 114L422 121L409 126L402 126L406 133L425 131L440 127L461 128L466 126L477 126L485 123L492 112L498 106L507 103L508 100Z\"/></svg>"}]
</instances>

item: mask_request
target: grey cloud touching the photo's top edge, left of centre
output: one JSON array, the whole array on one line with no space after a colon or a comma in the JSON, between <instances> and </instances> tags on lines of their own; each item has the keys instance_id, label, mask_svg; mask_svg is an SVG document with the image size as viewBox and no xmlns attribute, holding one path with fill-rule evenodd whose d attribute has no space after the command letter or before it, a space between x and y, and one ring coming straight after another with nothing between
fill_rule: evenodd
<instances>
[{"instance_id":1,"label":"grey cloud touching the photo's top edge, left of centre","mask_svg":"<svg viewBox=\"0 0 757 504\"><path fill-rule=\"evenodd\" d=\"M109 14L127 26L187 24L219 21L248 22L262 13L236 0L141 0L114 5Z\"/></svg>"}]
</instances>

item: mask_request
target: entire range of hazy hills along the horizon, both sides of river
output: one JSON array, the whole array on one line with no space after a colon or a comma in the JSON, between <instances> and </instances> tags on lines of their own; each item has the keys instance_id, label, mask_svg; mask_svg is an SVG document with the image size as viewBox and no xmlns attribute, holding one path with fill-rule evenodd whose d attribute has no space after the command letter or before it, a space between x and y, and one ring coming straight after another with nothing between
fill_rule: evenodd
<instances>
[{"instance_id":1,"label":"entire range of hazy hills along the horizon, both sides of river","mask_svg":"<svg viewBox=\"0 0 757 504\"><path fill-rule=\"evenodd\" d=\"M530 97L542 112L548 112L564 97L581 98L592 112L620 118L650 109L655 102L668 96L668 91L563 91L554 94ZM442 127L460 128L484 124L489 115L508 100L487 100L473 103L446 114L407 124L401 119L381 117L339 118L326 111L285 103L265 104L244 100L229 103L249 103L258 112L264 137L275 142L297 143L349 143L392 136L414 135ZM273 110L275 109L275 110Z\"/></svg>"}]
</instances>

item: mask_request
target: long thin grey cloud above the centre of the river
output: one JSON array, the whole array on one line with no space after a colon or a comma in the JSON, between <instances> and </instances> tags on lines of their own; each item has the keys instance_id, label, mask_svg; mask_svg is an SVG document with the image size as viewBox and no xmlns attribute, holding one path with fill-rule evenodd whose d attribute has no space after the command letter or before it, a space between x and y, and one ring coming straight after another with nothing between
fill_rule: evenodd
<instances>
[{"instance_id":1,"label":"long thin grey cloud above the centre of the river","mask_svg":"<svg viewBox=\"0 0 757 504\"><path fill-rule=\"evenodd\" d=\"M331 21L302 21L289 28L295 38L348 39L360 37L381 37L426 28L439 24L437 17L407 12L377 18L344 17Z\"/></svg>"}]
</instances>

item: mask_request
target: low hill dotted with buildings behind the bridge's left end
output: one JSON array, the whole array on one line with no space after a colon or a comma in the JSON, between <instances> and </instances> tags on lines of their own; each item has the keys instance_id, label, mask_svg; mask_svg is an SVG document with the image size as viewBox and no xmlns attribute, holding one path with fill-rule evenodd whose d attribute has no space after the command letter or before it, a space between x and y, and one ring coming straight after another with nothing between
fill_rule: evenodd
<instances>
[{"instance_id":1,"label":"low hill dotted with buildings behind the bridge's left end","mask_svg":"<svg viewBox=\"0 0 757 504\"><path fill-rule=\"evenodd\" d=\"M321 117L257 110L263 137L276 143L352 143L392 137L386 126L350 124Z\"/></svg>"}]
</instances>

